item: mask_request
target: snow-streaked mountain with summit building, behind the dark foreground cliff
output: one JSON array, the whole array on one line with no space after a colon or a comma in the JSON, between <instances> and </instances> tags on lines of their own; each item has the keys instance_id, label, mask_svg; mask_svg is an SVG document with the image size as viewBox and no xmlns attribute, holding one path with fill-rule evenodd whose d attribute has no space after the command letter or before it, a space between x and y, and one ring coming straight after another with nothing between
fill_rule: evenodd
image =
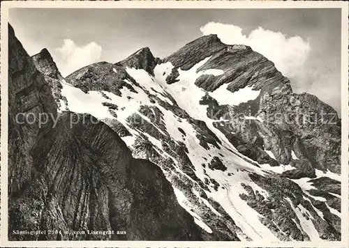
<instances>
[{"instance_id":1,"label":"snow-streaked mountain with summit building, behind the dark foreground cliff","mask_svg":"<svg viewBox=\"0 0 349 248\"><path fill-rule=\"evenodd\" d=\"M57 78L60 111L95 116L157 164L210 237L340 239L339 118L251 47L204 36L163 60L145 48ZM320 111L332 123L299 121Z\"/></svg>"}]
</instances>

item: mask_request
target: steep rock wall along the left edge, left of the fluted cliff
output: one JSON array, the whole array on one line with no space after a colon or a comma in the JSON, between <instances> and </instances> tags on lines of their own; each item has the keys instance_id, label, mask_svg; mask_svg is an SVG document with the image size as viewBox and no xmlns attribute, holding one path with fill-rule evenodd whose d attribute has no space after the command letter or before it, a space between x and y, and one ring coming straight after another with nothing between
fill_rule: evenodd
<instances>
[{"instance_id":1,"label":"steep rock wall along the left edge, left of the fluted cliff","mask_svg":"<svg viewBox=\"0 0 349 248\"><path fill-rule=\"evenodd\" d=\"M29 151L39 133L45 133L53 125L49 121L39 130L39 115L47 113L55 118L57 104L50 86L15 38L12 26L8 26L8 31L8 177L9 192L16 194L32 180L34 167ZM25 120L26 116L29 121Z\"/></svg>"}]
</instances>

